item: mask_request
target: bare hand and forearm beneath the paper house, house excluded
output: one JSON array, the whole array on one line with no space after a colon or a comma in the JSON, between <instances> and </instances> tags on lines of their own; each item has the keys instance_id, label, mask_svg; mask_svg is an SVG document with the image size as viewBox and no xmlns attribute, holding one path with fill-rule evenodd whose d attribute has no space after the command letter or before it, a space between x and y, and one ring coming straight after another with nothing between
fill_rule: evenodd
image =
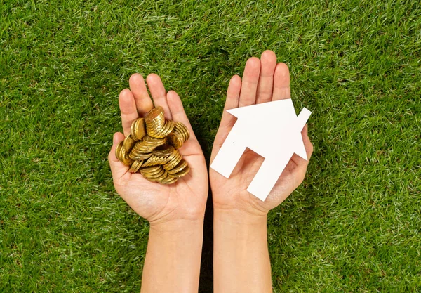
<instances>
[{"instance_id":1,"label":"bare hand and forearm beneath the paper house, house excluded","mask_svg":"<svg viewBox=\"0 0 421 293\"><path fill-rule=\"evenodd\" d=\"M276 55L265 51L246 63L243 78L234 75L229 82L227 100L210 162L221 148L236 118L225 110L290 98L287 65L276 64ZM313 146L302 129L307 158ZM265 202L246 188L257 173L263 158L246 150L229 179L209 171L214 208L214 292L272 292L267 250L267 213L277 207L300 185L309 161L293 155Z\"/></svg>"}]
</instances>

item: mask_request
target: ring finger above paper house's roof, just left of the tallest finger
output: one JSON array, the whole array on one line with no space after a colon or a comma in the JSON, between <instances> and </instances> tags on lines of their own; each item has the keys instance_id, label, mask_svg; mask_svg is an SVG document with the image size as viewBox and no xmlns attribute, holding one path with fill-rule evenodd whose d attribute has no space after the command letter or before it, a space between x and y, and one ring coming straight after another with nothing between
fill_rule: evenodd
<instances>
[{"instance_id":1,"label":"ring finger above paper house's roof, just left of the tallest finger","mask_svg":"<svg viewBox=\"0 0 421 293\"><path fill-rule=\"evenodd\" d=\"M248 59L243 73L243 84L241 84L239 107L253 105L256 103L256 91L258 89L259 74L260 59L256 57Z\"/></svg>"}]
</instances>

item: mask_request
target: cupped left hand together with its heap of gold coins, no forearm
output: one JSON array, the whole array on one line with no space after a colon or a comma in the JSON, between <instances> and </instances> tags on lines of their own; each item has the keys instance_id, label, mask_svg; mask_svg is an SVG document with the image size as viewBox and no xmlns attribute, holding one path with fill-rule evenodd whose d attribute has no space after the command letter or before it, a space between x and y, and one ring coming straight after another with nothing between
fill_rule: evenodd
<instances>
[{"instance_id":1,"label":"cupped left hand together with its heap of gold coins, no forearm","mask_svg":"<svg viewBox=\"0 0 421 293\"><path fill-rule=\"evenodd\" d=\"M166 93L156 74L149 74L146 84L133 74L129 85L119 96L123 134L114 134L109 152L117 193L151 227L203 221L206 161L180 97Z\"/></svg>"}]
</instances>

